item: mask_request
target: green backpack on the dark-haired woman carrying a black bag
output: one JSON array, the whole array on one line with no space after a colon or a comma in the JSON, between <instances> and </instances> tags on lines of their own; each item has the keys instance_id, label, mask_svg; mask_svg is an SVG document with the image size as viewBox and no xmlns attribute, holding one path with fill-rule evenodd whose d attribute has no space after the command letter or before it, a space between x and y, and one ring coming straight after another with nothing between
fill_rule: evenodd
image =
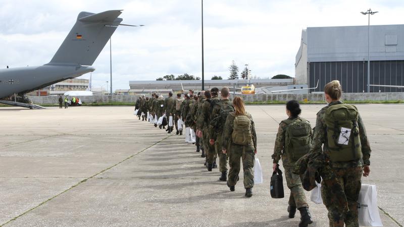
<instances>
[{"instance_id":1,"label":"green backpack on the dark-haired woman carrying a black bag","mask_svg":"<svg viewBox=\"0 0 404 227\"><path fill-rule=\"evenodd\" d=\"M284 120L282 122L287 124L285 133L286 155L291 161L297 161L309 153L312 147L310 122L301 118Z\"/></svg>"}]
</instances>

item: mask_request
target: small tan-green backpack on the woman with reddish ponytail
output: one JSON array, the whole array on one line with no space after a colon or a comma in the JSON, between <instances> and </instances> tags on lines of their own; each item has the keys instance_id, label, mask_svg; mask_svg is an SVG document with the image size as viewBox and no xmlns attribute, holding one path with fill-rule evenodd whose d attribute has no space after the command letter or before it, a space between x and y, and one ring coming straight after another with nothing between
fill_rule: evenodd
<instances>
[{"instance_id":1,"label":"small tan-green backpack on the woman with reddish ponytail","mask_svg":"<svg viewBox=\"0 0 404 227\"><path fill-rule=\"evenodd\" d=\"M234 115L234 113L230 113ZM251 120L247 115L237 115L233 122L233 133L231 138L233 143L238 145L248 145L252 143Z\"/></svg>"}]
</instances>

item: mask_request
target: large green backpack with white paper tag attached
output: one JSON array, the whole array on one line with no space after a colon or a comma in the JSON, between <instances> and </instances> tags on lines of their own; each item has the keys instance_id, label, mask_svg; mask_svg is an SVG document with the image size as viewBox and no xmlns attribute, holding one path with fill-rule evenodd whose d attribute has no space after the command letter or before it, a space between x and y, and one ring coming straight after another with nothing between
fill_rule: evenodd
<instances>
[{"instance_id":1,"label":"large green backpack with white paper tag attached","mask_svg":"<svg viewBox=\"0 0 404 227\"><path fill-rule=\"evenodd\" d=\"M362 158L356 106L336 104L325 112L327 141L331 161L354 161Z\"/></svg>"}]
</instances>

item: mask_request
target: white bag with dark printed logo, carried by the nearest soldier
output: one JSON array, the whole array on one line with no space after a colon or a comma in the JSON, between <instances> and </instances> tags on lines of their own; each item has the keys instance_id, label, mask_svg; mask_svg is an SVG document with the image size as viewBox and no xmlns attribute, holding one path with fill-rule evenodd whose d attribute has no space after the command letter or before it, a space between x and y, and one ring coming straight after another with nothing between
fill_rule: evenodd
<instances>
[{"instance_id":1,"label":"white bag with dark printed logo, carried by the nearest soldier","mask_svg":"<svg viewBox=\"0 0 404 227\"><path fill-rule=\"evenodd\" d=\"M358 220L361 226L383 226L377 206L376 185L362 185L358 199Z\"/></svg>"}]
</instances>

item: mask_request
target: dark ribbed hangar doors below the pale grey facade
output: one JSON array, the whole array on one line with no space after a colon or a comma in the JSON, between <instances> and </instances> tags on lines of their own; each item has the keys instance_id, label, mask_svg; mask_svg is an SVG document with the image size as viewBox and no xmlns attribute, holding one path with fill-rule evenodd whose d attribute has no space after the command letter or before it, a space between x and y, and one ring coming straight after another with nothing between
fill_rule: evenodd
<instances>
[{"instance_id":1,"label":"dark ribbed hangar doors below the pale grey facade","mask_svg":"<svg viewBox=\"0 0 404 227\"><path fill-rule=\"evenodd\" d=\"M370 84L404 85L404 61L370 62ZM309 87L319 87L323 91L326 83L339 80L343 92L360 93L367 91L368 62L312 62L308 63ZM404 92L404 89L387 87L370 87L371 92ZM312 90L313 91L313 90Z\"/></svg>"}]
</instances>

